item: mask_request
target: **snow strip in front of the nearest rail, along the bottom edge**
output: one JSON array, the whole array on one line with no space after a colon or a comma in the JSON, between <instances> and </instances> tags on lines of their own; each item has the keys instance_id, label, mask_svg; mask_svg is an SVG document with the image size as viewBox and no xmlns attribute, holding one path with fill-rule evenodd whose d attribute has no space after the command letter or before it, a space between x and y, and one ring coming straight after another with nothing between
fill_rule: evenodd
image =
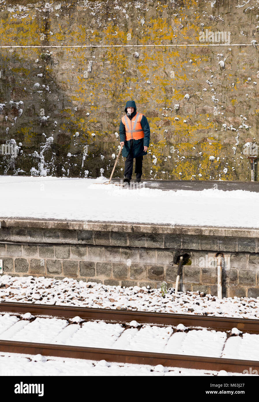
<instances>
[{"instance_id":1,"label":"snow strip in front of the nearest rail, along the bottom edge","mask_svg":"<svg viewBox=\"0 0 259 402\"><path fill-rule=\"evenodd\" d=\"M0 375L60 375L60 376L214 376L214 375L243 375L226 373L226 371L208 371L183 369L178 367L163 367L107 363L105 360L92 361L83 359L64 359L63 357L32 356L20 353L0 352Z\"/></svg>"}]
</instances>

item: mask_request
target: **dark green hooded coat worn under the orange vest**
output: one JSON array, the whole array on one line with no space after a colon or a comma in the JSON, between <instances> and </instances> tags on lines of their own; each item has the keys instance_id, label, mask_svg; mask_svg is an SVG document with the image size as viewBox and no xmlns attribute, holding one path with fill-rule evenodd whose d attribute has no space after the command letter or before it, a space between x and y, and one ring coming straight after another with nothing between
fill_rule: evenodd
<instances>
[{"instance_id":1,"label":"dark green hooded coat worn under the orange vest","mask_svg":"<svg viewBox=\"0 0 259 402\"><path fill-rule=\"evenodd\" d=\"M127 113L127 108L128 107L134 107L134 112L131 113L131 115L128 115ZM136 114L137 114L137 106L134 100L128 100L125 106L125 112L127 113L127 116L132 119ZM147 151L144 152L144 146L148 147L149 146L149 140L150 140L150 128L149 128L149 123L147 121L147 117L143 115L141 119L141 127L143 128L144 131L144 138L141 139L133 139L133 158L136 158L138 156L142 155L147 155ZM131 150L131 140L126 141L126 131L125 131L125 126L120 121L120 141L124 141L124 147L122 149L122 156L126 158L128 156L128 153Z\"/></svg>"}]
</instances>

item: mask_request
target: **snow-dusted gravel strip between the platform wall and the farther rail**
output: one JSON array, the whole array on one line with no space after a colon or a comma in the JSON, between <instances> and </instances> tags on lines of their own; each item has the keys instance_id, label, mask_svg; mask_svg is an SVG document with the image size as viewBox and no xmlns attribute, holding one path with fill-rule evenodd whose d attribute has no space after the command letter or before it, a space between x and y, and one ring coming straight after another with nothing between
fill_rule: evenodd
<instances>
[{"instance_id":1,"label":"snow-dusted gravel strip between the platform wall and the farther rail","mask_svg":"<svg viewBox=\"0 0 259 402\"><path fill-rule=\"evenodd\" d=\"M84 306L149 312L186 313L237 318L259 318L259 298L218 299L202 292L169 289L163 298L161 289L108 286L76 279L56 280L45 277L0 277L0 302L21 301L40 304Z\"/></svg>"}]
</instances>

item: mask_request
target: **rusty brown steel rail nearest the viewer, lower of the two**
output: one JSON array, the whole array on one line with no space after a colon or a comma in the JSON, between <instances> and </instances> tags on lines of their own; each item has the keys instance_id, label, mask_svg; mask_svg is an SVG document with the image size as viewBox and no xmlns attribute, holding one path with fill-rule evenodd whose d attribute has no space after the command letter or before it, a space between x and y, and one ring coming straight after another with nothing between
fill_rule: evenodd
<instances>
[{"instance_id":1,"label":"rusty brown steel rail nearest the viewer, lower of the two","mask_svg":"<svg viewBox=\"0 0 259 402\"><path fill-rule=\"evenodd\" d=\"M88 348L81 346L53 345L42 343L0 340L0 352L23 353L73 359L106 360L108 362L163 365L199 370L226 370L230 373L243 373L244 370L259 370L259 361L224 359L221 357L202 357L171 355L168 353L150 353L124 351L119 349Z\"/></svg>"}]
</instances>

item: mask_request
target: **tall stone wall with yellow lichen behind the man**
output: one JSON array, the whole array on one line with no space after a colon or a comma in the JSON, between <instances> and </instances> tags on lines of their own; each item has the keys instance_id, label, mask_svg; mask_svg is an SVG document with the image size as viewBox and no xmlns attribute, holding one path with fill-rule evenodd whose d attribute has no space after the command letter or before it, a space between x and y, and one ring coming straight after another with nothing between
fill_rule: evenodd
<instances>
[{"instance_id":1,"label":"tall stone wall with yellow lichen behind the man","mask_svg":"<svg viewBox=\"0 0 259 402\"><path fill-rule=\"evenodd\" d=\"M0 174L109 177L135 99L151 129L145 179L250 180L258 14L257 0L0 2L0 144L17 146Z\"/></svg>"}]
</instances>

